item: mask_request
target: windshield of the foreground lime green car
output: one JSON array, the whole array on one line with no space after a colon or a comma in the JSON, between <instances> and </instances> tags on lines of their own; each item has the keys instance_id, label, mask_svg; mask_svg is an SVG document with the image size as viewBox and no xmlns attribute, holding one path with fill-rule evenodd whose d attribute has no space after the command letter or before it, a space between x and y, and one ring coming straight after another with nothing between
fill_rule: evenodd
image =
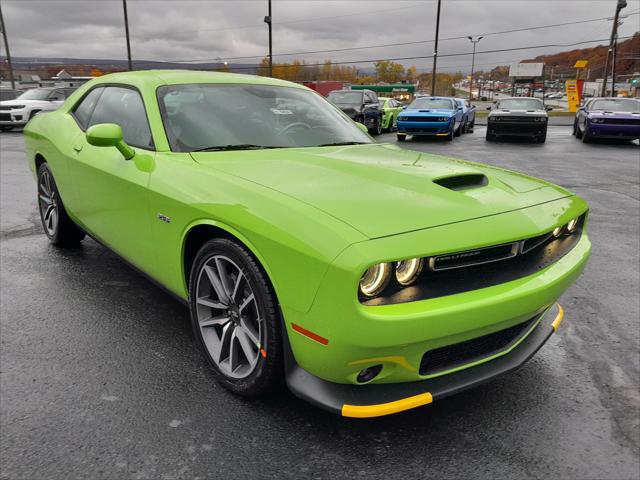
<instances>
[{"instance_id":1,"label":"windshield of the foreground lime green car","mask_svg":"<svg viewBox=\"0 0 640 480\"><path fill-rule=\"evenodd\" d=\"M372 143L312 91L270 85L194 84L158 89L173 151Z\"/></svg>"}]
</instances>

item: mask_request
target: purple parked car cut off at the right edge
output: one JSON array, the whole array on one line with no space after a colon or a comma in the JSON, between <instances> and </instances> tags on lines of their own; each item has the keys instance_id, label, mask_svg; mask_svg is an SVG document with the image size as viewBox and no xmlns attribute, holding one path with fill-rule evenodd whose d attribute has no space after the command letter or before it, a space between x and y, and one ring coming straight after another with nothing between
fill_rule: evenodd
<instances>
[{"instance_id":1,"label":"purple parked car cut off at the right edge","mask_svg":"<svg viewBox=\"0 0 640 480\"><path fill-rule=\"evenodd\" d=\"M640 100L592 98L578 110L573 134L588 143L596 138L640 138Z\"/></svg>"}]
</instances>

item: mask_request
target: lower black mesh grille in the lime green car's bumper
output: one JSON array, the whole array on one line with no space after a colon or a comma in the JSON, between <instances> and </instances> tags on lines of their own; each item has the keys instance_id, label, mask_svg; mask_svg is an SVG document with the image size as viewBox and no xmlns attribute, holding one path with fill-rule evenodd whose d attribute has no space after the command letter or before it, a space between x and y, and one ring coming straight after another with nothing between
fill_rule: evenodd
<instances>
[{"instance_id":1,"label":"lower black mesh grille in the lime green car's bumper","mask_svg":"<svg viewBox=\"0 0 640 480\"><path fill-rule=\"evenodd\" d=\"M537 318L489 335L429 350L422 356L420 375L433 375L499 353L517 342Z\"/></svg>"}]
</instances>

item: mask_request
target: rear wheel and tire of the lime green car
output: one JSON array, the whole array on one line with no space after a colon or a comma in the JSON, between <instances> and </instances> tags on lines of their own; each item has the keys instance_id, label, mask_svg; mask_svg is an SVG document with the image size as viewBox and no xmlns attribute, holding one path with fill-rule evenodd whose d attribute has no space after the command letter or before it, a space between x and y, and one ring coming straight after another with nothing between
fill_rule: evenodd
<instances>
[{"instance_id":1,"label":"rear wheel and tire of the lime green car","mask_svg":"<svg viewBox=\"0 0 640 480\"><path fill-rule=\"evenodd\" d=\"M38 210L44 233L54 245L77 245L86 236L67 215L55 179L46 162L38 168Z\"/></svg>"}]
</instances>

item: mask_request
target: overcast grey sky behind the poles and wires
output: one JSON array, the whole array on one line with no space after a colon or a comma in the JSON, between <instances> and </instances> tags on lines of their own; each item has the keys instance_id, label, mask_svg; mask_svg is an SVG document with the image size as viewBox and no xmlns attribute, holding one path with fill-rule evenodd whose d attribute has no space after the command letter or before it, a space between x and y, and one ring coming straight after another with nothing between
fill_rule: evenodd
<instances>
[{"instance_id":1,"label":"overcast grey sky behind the poles and wires","mask_svg":"<svg viewBox=\"0 0 640 480\"><path fill-rule=\"evenodd\" d=\"M121 0L0 0L13 56L126 58ZM469 70L466 39L445 40L504 30L612 17L616 0L443 0L440 24L442 55L447 70ZM274 55L352 48L399 42L432 41L436 0L273 0ZM267 53L267 0L182 1L128 0L134 59L258 62ZM628 0L629 15L620 36L640 30L640 0ZM606 39L611 21L602 20L517 33L485 35L478 52L541 44L570 44ZM480 53L478 68L509 64L576 47ZM295 56L319 62L431 55L433 43ZM4 55L4 51L2 51ZM234 59L256 55L256 58ZM402 60L406 66L430 70L431 59ZM359 64L362 68L370 64Z\"/></svg>"}]
</instances>

